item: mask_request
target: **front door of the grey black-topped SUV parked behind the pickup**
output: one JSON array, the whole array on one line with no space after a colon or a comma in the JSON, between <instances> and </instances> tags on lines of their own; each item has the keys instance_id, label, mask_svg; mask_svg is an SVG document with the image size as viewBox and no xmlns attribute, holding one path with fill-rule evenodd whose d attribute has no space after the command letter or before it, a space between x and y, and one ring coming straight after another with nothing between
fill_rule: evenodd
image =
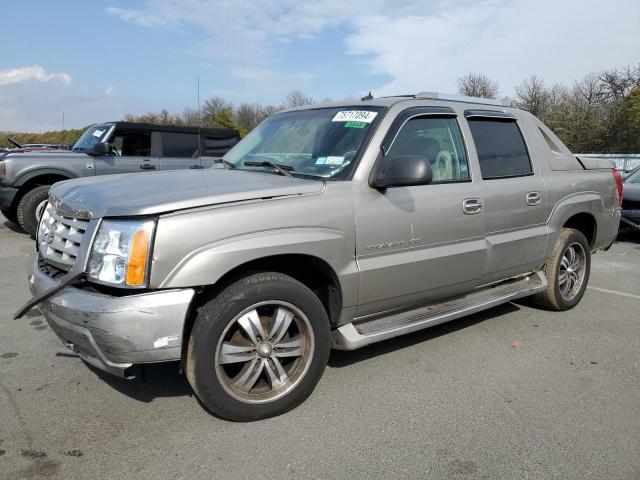
<instances>
[{"instance_id":1,"label":"front door of the grey black-topped SUV parked behind the pickup","mask_svg":"<svg viewBox=\"0 0 640 480\"><path fill-rule=\"evenodd\" d=\"M151 155L151 132L116 129L111 139L111 154L96 158L96 175L138 173L158 169L158 157Z\"/></svg>"}]
</instances>

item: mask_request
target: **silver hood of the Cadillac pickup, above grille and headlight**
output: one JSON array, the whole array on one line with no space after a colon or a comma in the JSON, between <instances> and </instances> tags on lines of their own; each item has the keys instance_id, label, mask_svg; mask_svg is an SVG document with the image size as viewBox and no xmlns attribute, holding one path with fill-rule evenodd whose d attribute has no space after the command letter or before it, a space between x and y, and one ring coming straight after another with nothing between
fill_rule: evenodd
<instances>
[{"instance_id":1,"label":"silver hood of the Cadillac pickup, above grille and headlight","mask_svg":"<svg viewBox=\"0 0 640 480\"><path fill-rule=\"evenodd\" d=\"M210 168L67 180L56 183L49 191L49 198L62 215L91 219L318 194L324 185L319 180Z\"/></svg>"}]
</instances>

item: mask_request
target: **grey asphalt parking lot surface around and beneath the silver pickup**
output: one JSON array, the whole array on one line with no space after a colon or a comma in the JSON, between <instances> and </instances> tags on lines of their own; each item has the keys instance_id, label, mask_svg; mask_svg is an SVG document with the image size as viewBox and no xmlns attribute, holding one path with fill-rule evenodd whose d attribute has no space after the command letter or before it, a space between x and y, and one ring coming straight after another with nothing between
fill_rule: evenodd
<instances>
[{"instance_id":1,"label":"grey asphalt parking lot surface around and beneath the silver pickup","mask_svg":"<svg viewBox=\"0 0 640 480\"><path fill-rule=\"evenodd\" d=\"M640 237L593 258L574 310L524 303L355 352L255 423L208 414L175 364L85 365L28 299L0 217L0 478L640 478Z\"/></svg>"}]
</instances>

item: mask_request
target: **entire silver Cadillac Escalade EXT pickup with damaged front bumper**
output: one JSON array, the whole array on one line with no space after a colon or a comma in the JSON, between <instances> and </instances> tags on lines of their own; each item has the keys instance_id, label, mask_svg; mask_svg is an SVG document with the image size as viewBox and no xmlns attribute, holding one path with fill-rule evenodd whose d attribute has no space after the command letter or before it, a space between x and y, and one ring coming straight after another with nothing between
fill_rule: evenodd
<instances>
[{"instance_id":1,"label":"entire silver Cadillac Escalade EXT pickup with damaged front bumper","mask_svg":"<svg viewBox=\"0 0 640 480\"><path fill-rule=\"evenodd\" d=\"M181 361L218 416L283 413L352 350L532 296L567 310L620 221L613 164L533 115L417 94L273 115L206 170L56 184L33 299L115 375Z\"/></svg>"}]
</instances>

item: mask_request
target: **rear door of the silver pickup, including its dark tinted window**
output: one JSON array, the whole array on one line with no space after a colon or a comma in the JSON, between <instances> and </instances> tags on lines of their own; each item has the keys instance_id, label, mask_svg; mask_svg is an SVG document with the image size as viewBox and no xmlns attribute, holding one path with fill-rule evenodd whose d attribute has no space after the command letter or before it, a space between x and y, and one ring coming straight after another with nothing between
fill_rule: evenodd
<instances>
[{"instance_id":1,"label":"rear door of the silver pickup, including its dark tinted window","mask_svg":"<svg viewBox=\"0 0 640 480\"><path fill-rule=\"evenodd\" d=\"M544 263L547 194L518 118L491 110L466 110L465 117L482 175L485 280L536 268Z\"/></svg>"}]
</instances>

